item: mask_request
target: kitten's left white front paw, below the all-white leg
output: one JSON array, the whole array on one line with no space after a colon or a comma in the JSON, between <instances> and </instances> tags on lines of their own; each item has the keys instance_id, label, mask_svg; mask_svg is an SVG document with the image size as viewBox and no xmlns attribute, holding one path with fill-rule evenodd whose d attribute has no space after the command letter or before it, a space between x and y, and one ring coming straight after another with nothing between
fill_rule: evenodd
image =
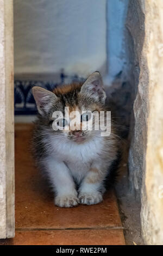
<instances>
[{"instance_id":1,"label":"kitten's left white front paw, below the all-white leg","mask_svg":"<svg viewBox=\"0 0 163 256\"><path fill-rule=\"evenodd\" d=\"M79 199L74 195L57 196L54 200L55 205L60 207L73 207L79 204Z\"/></svg>"}]
</instances>

